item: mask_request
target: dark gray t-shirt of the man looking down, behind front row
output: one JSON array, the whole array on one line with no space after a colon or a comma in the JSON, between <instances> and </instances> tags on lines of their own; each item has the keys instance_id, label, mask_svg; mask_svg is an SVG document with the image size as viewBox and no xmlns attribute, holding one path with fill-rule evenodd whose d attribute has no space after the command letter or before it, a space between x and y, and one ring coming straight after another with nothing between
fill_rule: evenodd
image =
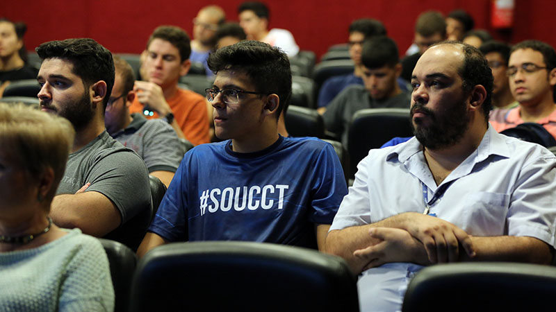
<instances>
[{"instance_id":1,"label":"dark gray t-shirt of the man looking down, behind front row","mask_svg":"<svg viewBox=\"0 0 556 312\"><path fill-rule=\"evenodd\" d=\"M322 119L328 131L341 135L342 144L347 146L347 130L353 115L366 108L407 108L411 105L411 94L402 92L391 98L376 100L369 96L362 85L350 85L343 89L327 106Z\"/></svg>"}]
</instances>

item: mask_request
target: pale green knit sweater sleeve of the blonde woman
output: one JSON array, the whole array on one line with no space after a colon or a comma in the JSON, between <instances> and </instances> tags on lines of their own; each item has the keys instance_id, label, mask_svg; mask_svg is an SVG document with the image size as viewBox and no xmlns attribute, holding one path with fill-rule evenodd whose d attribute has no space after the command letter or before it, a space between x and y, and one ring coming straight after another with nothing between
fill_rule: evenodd
<instances>
[{"instance_id":1,"label":"pale green knit sweater sleeve of the blonde woman","mask_svg":"<svg viewBox=\"0 0 556 312\"><path fill-rule=\"evenodd\" d=\"M84 236L65 268L58 311L113 311L114 288L104 248Z\"/></svg>"}]
</instances>

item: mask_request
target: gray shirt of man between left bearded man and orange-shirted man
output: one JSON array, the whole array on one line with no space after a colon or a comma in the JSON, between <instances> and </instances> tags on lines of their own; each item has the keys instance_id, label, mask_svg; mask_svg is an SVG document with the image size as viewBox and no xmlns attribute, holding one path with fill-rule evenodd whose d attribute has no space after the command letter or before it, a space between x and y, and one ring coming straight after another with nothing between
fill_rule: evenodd
<instances>
[{"instance_id":1,"label":"gray shirt of man between left bearded man and orange-shirted man","mask_svg":"<svg viewBox=\"0 0 556 312\"><path fill-rule=\"evenodd\" d=\"M135 150L145 161L149 173L153 171L176 172L186 153L186 146L176 132L161 119L147 120L141 114L131 114L133 120L112 137L126 148Z\"/></svg>"}]
</instances>

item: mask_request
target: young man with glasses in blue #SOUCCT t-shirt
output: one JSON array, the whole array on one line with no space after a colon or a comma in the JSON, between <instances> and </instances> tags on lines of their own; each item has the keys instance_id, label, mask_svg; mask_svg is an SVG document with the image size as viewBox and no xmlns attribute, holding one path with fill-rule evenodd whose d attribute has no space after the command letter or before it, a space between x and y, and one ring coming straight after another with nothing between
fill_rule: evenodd
<instances>
[{"instance_id":1,"label":"young man with glasses in blue #SOUCCT t-shirt","mask_svg":"<svg viewBox=\"0 0 556 312\"><path fill-rule=\"evenodd\" d=\"M347 193L334 148L278 134L291 97L286 54L244 41L208 58L216 72L206 98L217 144L183 158L138 255L174 241L260 241L324 247Z\"/></svg>"}]
</instances>

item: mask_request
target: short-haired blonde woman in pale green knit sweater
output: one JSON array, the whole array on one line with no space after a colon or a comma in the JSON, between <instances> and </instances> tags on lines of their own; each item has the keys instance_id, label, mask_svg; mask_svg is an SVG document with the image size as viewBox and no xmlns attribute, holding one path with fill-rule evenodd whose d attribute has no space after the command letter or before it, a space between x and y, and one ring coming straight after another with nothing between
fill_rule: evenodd
<instances>
[{"instance_id":1,"label":"short-haired blonde woman in pale green knit sweater","mask_svg":"<svg viewBox=\"0 0 556 312\"><path fill-rule=\"evenodd\" d=\"M74 130L66 119L0 103L0 310L113 311L100 242L49 218Z\"/></svg>"}]
</instances>

